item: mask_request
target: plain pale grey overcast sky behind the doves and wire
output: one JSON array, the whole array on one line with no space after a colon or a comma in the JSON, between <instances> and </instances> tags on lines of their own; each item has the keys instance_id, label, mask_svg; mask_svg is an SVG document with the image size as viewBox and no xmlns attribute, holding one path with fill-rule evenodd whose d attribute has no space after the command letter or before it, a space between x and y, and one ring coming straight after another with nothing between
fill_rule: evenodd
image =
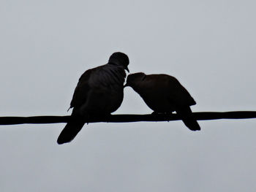
<instances>
[{"instance_id":1,"label":"plain pale grey overcast sky behind the doves and wire","mask_svg":"<svg viewBox=\"0 0 256 192\"><path fill-rule=\"evenodd\" d=\"M256 110L256 1L0 1L0 116L69 115L81 74L121 51L175 76L195 112ZM152 111L132 88L115 114ZM0 127L0 191L256 191L256 120Z\"/></svg>"}]
</instances>

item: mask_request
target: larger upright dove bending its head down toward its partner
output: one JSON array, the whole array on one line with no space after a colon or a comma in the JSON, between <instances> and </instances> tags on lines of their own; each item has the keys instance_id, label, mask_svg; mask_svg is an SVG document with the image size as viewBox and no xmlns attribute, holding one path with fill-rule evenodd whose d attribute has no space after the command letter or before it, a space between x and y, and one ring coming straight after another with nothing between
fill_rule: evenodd
<instances>
[{"instance_id":1,"label":"larger upright dove bending its head down toward its partner","mask_svg":"<svg viewBox=\"0 0 256 192\"><path fill-rule=\"evenodd\" d=\"M82 74L75 88L70 108L72 116L78 118L67 123L57 142L71 142L90 116L110 115L120 107L124 98L124 70L128 69L129 58L124 53L113 53L108 64L89 69Z\"/></svg>"}]
</instances>

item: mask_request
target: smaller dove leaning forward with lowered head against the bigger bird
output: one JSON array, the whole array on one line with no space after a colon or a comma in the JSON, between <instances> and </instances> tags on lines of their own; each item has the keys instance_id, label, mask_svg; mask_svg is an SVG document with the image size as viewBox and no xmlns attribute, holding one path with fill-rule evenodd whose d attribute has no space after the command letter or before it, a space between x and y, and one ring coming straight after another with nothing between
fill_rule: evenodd
<instances>
[{"instance_id":1,"label":"smaller dove leaning forward with lowered head against the bigger bird","mask_svg":"<svg viewBox=\"0 0 256 192\"><path fill-rule=\"evenodd\" d=\"M176 111L190 130L200 130L189 107L196 102L175 77L167 74L146 75L140 72L129 74L127 84L124 86L130 86L139 93L154 113Z\"/></svg>"}]
</instances>

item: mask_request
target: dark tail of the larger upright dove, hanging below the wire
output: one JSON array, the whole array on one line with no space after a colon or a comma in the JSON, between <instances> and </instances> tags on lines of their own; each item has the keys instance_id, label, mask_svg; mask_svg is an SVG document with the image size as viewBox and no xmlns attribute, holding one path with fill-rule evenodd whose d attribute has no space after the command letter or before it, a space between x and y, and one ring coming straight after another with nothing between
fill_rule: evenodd
<instances>
[{"instance_id":1,"label":"dark tail of the larger upright dove, hanging below the wire","mask_svg":"<svg viewBox=\"0 0 256 192\"><path fill-rule=\"evenodd\" d=\"M74 139L75 136L79 133L81 128L83 128L84 123L85 122L82 120L67 123L57 139L58 144L60 145L66 142L71 142L72 139Z\"/></svg>"}]
</instances>

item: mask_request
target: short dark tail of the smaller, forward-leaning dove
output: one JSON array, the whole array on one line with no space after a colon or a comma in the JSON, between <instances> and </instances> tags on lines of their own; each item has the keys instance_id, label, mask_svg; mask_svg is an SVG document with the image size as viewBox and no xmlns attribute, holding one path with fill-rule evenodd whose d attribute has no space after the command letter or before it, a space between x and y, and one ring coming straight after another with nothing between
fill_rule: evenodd
<instances>
[{"instance_id":1,"label":"short dark tail of the smaller, forward-leaning dove","mask_svg":"<svg viewBox=\"0 0 256 192\"><path fill-rule=\"evenodd\" d=\"M177 114L181 115L181 120L191 131L200 131L200 126L197 120L192 114L190 107L183 108L182 110L177 110Z\"/></svg>"}]
</instances>

